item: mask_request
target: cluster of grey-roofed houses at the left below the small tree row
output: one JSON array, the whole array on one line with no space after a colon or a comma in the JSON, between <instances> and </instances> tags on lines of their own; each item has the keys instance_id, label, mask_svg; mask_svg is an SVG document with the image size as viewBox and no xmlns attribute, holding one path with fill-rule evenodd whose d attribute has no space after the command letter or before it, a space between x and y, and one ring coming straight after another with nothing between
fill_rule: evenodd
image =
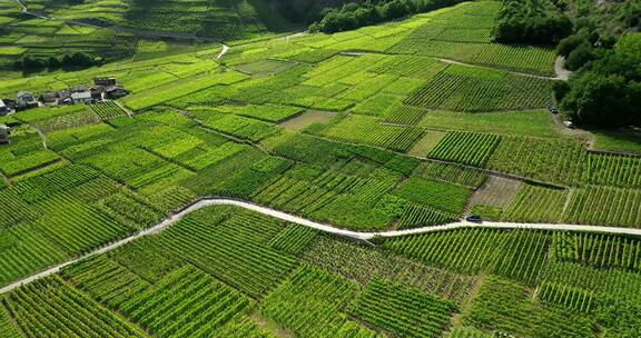
<instances>
[{"instance_id":1,"label":"cluster of grey-roofed houses at the left below the small tree row","mask_svg":"<svg viewBox=\"0 0 641 338\"><path fill-rule=\"evenodd\" d=\"M95 78L93 86L83 84L59 91L50 91L34 96L29 91L21 90L16 96L16 100L0 99L0 116L12 111L20 111L42 106L92 103L102 100L119 99L129 91L118 86L116 78Z\"/></svg>"}]
</instances>

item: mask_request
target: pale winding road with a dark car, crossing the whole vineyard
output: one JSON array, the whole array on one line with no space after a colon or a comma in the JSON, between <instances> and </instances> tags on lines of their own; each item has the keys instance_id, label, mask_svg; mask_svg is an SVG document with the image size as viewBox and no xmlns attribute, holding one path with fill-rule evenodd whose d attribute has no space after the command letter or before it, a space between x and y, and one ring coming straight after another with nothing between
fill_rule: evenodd
<instances>
[{"instance_id":1,"label":"pale winding road with a dark car, crossing the whole vineyard","mask_svg":"<svg viewBox=\"0 0 641 338\"><path fill-rule=\"evenodd\" d=\"M70 259L66 262L51 267L47 270L40 271L36 275L22 278L11 285L8 285L0 289L0 295L9 292L22 285L29 284L40 278L45 278L47 276L53 275L59 272L62 268L72 265L77 261L80 261L85 258L105 254L118 247L121 247L132 240L136 240L140 237L158 233L166 229L167 227L180 221L185 216L206 207L210 206L235 206L243 209L252 210L255 212L259 212L263 215L267 215L274 218L278 218L285 221L294 222L300 226L305 226L308 228L313 228L323 232L334 233L342 237L352 238L355 240L367 241L374 239L375 237L383 237L383 238L392 238L392 237L401 237L414 233L426 233L426 232L436 232L436 231L444 231L444 230L453 230L453 229L461 229L461 228L494 228L494 229L541 229L541 230L563 230L563 231L592 231L592 232L604 232L604 233L619 233L619 235L631 235L631 236L640 236L641 237L641 229L632 229L632 228L617 228L617 227L599 227L599 226L585 226L585 225L551 225L551 223L515 223L515 222L469 222L469 221L457 221L442 226L431 226L431 227L423 227L423 228L415 228L415 229L405 229L405 230L394 230L394 231L381 231L381 232L357 232L346 229L339 229L332 227L329 225L323 225L319 222L315 222L298 216L294 216L290 213L286 213L283 211L274 210L270 208L266 208L263 206L258 206L252 202L247 202L244 200L231 199L231 198L203 198L187 208L176 212L161 222L152 226L151 228L147 228L141 230L137 233L131 235L130 237L120 239L116 242L107 245L105 247L98 248L93 251L90 251L83 256Z\"/></svg>"}]
</instances>

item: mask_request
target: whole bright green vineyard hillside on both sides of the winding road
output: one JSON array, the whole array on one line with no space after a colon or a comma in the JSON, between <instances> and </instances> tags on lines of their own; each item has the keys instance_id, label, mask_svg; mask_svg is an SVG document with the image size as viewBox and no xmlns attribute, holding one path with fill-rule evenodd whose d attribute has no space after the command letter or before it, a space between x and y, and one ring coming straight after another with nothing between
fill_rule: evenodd
<instances>
[{"instance_id":1,"label":"whole bright green vineyard hillside on both sides of the winding road","mask_svg":"<svg viewBox=\"0 0 641 338\"><path fill-rule=\"evenodd\" d=\"M29 2L62 20L220 37L229 51L0 4L0 62L106 58L7 70L0 97L103 76L131 91L0 117L12 128L0 145L0 287L210 196L356 231L470 212L641 225L638 140L596 132L594 148L625 152L602 153L562 132L546 110L554 52L492 42L499 2L285 38L273 33L292 28L259 1L145 6ZM211 207L0 295L0 336L638 336L638 238L461 229L375 243Z\"/></svg>"}]
</instances>

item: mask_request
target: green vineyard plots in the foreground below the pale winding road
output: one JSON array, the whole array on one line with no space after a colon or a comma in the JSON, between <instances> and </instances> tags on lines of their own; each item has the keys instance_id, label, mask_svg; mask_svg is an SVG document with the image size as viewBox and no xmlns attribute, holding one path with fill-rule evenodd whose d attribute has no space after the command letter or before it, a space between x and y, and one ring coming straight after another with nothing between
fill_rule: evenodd
<instances>
[{"instance_id":1,"label":"green vineyard plots in the foreground below the pale winding road","mask_svg":"<svg viewBox=\"0 0 641 338\"><path fill-rule=\"evenodd\" d=\"M11 291L0 325L28 337L275 337L268 320L296 337L375 338L595 337L596 322L635 322L599 317L641 290L635 239L464 229L382 245L210 207Z\"/></svg>"}]
</instances>

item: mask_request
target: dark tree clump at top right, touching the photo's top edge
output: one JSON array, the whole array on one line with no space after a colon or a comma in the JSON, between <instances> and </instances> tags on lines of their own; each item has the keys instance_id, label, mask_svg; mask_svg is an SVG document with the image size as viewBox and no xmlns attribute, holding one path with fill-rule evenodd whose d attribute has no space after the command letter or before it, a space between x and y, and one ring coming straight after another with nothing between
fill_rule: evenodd
<instances>
[{"instance_id":1,"label":"dark tree clump at top right, touching the photo's top edge","mask_svg":"<svg viewBox=\"0 0 641 338\"><path fill-rule=\"evenodd\" d=\"M572 21L539 1L504 0L494 38L499 42L556 44L572 33Z\"/></svg>"}]
</instances>

